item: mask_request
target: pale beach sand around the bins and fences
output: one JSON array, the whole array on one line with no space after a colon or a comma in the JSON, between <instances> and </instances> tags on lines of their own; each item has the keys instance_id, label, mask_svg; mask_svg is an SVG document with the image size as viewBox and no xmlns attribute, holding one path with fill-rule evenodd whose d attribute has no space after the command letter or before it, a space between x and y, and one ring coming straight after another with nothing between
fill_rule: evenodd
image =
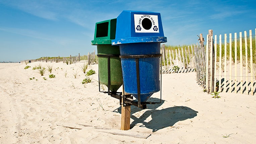
<instances>
[{"instance_id":1,"label":"pale beach sand around the bins and fences","mask_svg":"<svg viewBox=\"0 0 256 144\"><path fill-rule=\"evenodd\" d=\"M39 64L52 65L56 77L32 70ZM222 92L211 98L195 72L163 74L162 103L132 106L131 129L122 131L119 100L99 92L98 65L88 66L96 74L86 85L81 63L27 65L0 64L2 144L255 143L256 97ZM149 101L159 98L158 92Z\"/></svg>"}]
</instances>

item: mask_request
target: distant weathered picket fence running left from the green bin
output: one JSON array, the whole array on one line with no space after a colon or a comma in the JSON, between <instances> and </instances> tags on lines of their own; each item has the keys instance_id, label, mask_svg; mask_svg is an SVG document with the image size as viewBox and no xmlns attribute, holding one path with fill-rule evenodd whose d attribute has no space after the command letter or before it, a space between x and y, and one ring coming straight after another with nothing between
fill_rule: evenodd
<instances>
[{"instance_id":1,"label":"distant weathered picket fence running left from the green bin","mask_svg":"<svg viewBox=\"0 0 256 144\"><path fill-rule=\"evenodd\" d=\"M90 64L98 64L98 57L95 55L95 50L92 53L88 53L87 55L81 55L78 53L78 56L69 56L69 57L43 57L40 59L29 59L20 61L21 63L29 63L29 62L63 62L66 64L74 64L74 63L83 63L86 62Z\"/></svg>"}]
</instances>

